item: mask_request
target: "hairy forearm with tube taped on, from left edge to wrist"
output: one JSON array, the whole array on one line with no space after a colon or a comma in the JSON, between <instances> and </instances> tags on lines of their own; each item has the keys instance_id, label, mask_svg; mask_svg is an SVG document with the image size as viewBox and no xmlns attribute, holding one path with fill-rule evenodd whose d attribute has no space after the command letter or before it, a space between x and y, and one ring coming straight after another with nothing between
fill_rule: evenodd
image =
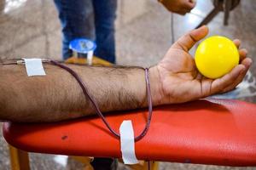
<instances>
[{"instance_id":1,"label":"hairy forearm with tube taped on, from left edge to wrist","mask_svg":"<svg viewBox=\"0 0 256 170\"><path fill-rule=\"evenodd\" d=\"M68 65L82 78L102 112L147 106L141 68ZM47 76L27 77L24 65L1 65L0 119L15 122L53 122L94 114L90 100L69 72L44 65ZM159 104L157 74L149 71L153 102Z\"/></svg>"}]
</instances>

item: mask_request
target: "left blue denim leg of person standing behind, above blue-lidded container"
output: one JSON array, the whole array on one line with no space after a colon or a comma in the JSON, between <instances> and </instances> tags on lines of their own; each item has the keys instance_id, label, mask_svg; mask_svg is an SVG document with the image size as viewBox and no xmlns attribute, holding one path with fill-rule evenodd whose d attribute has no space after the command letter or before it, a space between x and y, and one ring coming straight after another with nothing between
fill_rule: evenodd
<instances>
[{"instance_id":1,"label":"left blue denim leg of person standing behind, above blue-lidded container","mask_svg":"<svg viewBox=\"0 0 256 170\"><path fill-rule=\"evenodd\" d=\"M62 57L73 56L69 42L78 37L94 40L93 5L91 0L54 0L62 31Z\"/></svg>"}]
</instances>

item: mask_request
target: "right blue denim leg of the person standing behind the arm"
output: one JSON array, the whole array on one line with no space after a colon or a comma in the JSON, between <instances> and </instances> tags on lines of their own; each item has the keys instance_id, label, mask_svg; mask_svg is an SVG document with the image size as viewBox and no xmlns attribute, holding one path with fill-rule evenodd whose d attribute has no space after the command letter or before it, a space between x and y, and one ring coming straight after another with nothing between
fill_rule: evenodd
<instances>
[{"instance_id":1,"label":"right blue denim leg of the person standing behind the arm","mask_svg":"<svg viewBox=\"0 0 256 170\"><path fill-rule=\"evenodd\" d=\"M96 56L115 63L114 20L117 0L93 0L96 28Z\"/></svg>"}]
</instances>

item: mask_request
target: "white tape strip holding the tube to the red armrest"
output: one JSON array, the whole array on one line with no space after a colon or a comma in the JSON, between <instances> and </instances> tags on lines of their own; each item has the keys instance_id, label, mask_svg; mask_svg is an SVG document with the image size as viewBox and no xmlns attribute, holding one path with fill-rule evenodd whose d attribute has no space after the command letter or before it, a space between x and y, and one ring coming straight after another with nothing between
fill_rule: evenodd
<instances>
[{"instance_id":1,"label":"white tape strip holding the tube to the red armrest","mask_svg":"<svg viewBox=\"0 0 256 170\"><path fill-rule=\"evenodd\" d=\"M131 121L122 122L119 127L122 158L125 164L137 164L135 155L134 133Z\"/></svg>"}]
</instances>

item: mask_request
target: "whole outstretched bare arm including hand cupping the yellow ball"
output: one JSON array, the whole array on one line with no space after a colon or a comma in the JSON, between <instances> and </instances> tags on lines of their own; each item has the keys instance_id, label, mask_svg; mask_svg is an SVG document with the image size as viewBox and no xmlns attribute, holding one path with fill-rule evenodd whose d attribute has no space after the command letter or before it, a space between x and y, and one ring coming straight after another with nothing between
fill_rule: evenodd
<instances>
[{"instance_id":1,"label":"whole outstretched bare arm including hand cupping the yellow ball","mask_svg":"<svg viewBox=\"0 0 256 170\"><path fill-rule=\"evenodd\" d=\"M207 36L206 26L179 38L158 65L149 69L153 105L183 103L235 88L252 63L240 50L241 64L216 80L202 77L188 53ZM239 41L235 41L239 45ZM102 112L146 107L143 69L68 65L82 78ZM78 82L55 65L44 65L47 76L27 77L24 65L0 67L0 120L56 122L95 113Z\"/></svg>"}]
</instances>

